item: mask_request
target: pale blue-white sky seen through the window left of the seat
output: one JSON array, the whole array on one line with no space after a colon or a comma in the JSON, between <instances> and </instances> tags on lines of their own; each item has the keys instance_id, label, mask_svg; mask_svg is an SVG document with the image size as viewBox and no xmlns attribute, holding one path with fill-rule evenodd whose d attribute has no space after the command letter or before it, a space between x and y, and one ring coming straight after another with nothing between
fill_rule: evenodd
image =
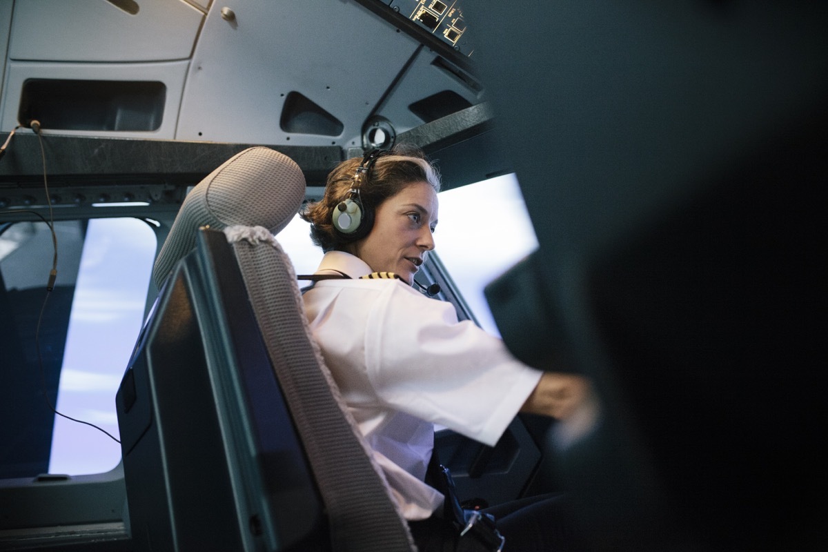
<instances>
[{"instance_id":1,"label":"pale blue-white sky seen through the window left of the seat","mask_svg":"<svg viewBox=\"0 0 828 552\"><path fill-rule=\"evenodd\" d=\"M141 330L155 252L147 223L89 221L55 407L116 438L115 393ZM89 425L55 416L49 473L103 473L120 460L118 443Z\"/></svg>"}]
</instances>

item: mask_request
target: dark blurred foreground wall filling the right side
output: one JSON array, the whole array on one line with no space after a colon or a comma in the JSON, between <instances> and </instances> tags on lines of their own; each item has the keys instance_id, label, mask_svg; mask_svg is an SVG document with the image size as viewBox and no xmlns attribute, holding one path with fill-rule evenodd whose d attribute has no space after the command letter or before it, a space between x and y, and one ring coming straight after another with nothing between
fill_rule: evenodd
<instances>
[{"instance_id":1,"label":"dark blurred foreground wall filling the right side","mask_svg":"<svg viewBox=\"0 0 828 552\"><path fill-rule=\"evenodd\" d=\"M825 4L529 15L469 12L520 38L477 53L540 242L489 301L595 377L557 451L592 549L826 550Z\"/></svg>"}]
</instances>

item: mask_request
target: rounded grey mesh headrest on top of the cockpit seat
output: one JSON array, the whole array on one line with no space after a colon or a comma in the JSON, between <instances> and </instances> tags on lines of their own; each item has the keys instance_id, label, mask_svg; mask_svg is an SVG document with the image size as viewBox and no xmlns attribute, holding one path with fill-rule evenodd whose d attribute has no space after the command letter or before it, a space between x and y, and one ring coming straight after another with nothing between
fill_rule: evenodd
<instances>
[{"instance_id":1,"label":"rounded grey mesh headrest on top of the cockpit seat","mask_svg":"<svg viewBox=\"0 0 828 552\"><path fill-rule=\"evenodd\" d=\"M195 247L200 227L262 226L275 234L304 198L305 175L290 157L263 146L237 153L187 194L152 269L156 286Z\"/></svg>"}]
</instances>

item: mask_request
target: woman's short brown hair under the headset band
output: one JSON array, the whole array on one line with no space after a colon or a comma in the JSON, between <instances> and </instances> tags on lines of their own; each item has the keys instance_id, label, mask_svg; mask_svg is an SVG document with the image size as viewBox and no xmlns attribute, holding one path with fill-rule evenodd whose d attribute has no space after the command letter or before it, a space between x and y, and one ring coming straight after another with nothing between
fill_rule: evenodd
<instances>
[{"instance_id":1,"label":"woman's short brown hair under the headset band","mask_svg":"<svg viewBox=\"0 0 828 552\"><path fill-rule=\"evenodd\" d=\"M333 220L336 206L350 197L354 175L362 163L362 157L342 161L330 171L322 199L309 204L300 213L310 223L310 238L329 252L342 249L353 238L335 230ZM431 162L416 146L397 144L391 151L378 156L359 185L359 198L363 209L375 211L386 199L398 194L413 182L425 181L440 191L440 175Z\"/></svg>"}]
</instances>

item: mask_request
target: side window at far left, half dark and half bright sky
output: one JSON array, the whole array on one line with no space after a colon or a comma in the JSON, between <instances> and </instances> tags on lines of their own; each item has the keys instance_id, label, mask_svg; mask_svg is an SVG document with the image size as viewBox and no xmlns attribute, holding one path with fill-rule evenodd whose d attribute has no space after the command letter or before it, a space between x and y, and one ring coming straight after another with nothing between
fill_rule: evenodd
<instances>
[{"instance_id":1,"label":"side window at far left, half dark and half bright sky","mask_svg":"<svg viewBox=\"0 0 828 552\"><path fill-rule=\"evenodd\" d=\"M114 468L115 392L141 329L156 236L136 218L0 226L0 478ZM51 405L51 406L50 406Z\"/></svg>"}]
</instances>

